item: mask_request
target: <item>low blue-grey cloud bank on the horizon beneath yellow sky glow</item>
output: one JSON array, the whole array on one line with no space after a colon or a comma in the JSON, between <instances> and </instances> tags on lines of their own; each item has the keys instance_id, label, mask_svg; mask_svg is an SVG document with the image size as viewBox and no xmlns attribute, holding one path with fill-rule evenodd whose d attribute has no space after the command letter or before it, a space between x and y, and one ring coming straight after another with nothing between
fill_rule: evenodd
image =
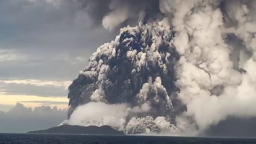
<instances>
[{"instance_id":1,"label":"low blue-grey cloud bank on the horizon beneath yellow sky glow","mask_svg":"<svg viewBox=\"0 0 256 144\"><path fill-rule=\"evenodd\" d=\"M0 133L26 133L57 126L67 117L66 109L40 106L34 109L17 103L6 113L0 111Z\"/></svg>"}]
</instances>

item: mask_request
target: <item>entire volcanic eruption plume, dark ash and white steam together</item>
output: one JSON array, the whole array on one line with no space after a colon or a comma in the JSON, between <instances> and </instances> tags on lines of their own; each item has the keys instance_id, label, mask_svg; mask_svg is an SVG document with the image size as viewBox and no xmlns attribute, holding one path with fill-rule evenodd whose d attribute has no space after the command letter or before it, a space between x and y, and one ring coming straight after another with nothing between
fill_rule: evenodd
<instances>
[{"instance_id":1,"label":"entire volcanic eruption plume, dark ash and white steam together","mask_svg":"<svg viewBox=\"0 0 256 144\"><path fill-rule=\"evenodd\" d=\"M93 53L69 86L65 123L193 135L227 117L256 117L256 2L159 0L153 10L163 18L147 11L155 1L143 2L141 10L107 1L98 14L109 30L139 22Z\"/></svg>"}]
</instances>

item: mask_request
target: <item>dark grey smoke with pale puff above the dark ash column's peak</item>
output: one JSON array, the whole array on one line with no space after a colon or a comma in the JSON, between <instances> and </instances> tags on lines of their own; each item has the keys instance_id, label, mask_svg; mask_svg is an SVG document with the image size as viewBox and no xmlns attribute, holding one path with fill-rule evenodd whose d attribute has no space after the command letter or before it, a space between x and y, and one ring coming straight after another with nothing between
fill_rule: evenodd
<instances>
[{"instance_id":1,"label":"dark grey smoke with pale puff above the dark ash column's peak","mask_svg":"<svg viewBox=\"0 0 256 144\"><path fill-rule=\"evenodd\" d=\"M119 28L122 24L137 22L138 13L147 12L147 17L156 19L161 14L158 9L158 0L76 0L81 9L98 25L109 31ZM145 15L146 17L146 15Z\"/></svg>"}]
</instances>

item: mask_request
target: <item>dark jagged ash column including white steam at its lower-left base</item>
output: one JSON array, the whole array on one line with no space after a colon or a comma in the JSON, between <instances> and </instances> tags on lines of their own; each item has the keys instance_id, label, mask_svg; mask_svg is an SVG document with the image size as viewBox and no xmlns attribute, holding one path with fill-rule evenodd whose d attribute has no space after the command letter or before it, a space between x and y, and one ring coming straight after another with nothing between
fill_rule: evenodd
<instances>
[{"instance_id":1,"label":"dark jagged ash column including white steam at its lower-left base","mask_svg":"<svg viewBox=\"0 0 256 144\"><path fill-rule=\"evenodd\" d=\"M117 116L123 118L122 124L113 123L119 130L123 130L124 124L132 117L166 116L166 121L174 122L171 98L175 97L172 92L175 90L174 63L178 60L178 53L171 42L173 31L165 28L163 22L127 27L121 31L115 41L99 47L86 70L80 71L78 78L69 86L69 115L78 107L70 116L69 124L84 121L77 118L79 112L76 111L87 109L96 113L95 108L103 109L103 113L111 117L112 113L116 114L116 109L122 113L126 111L127 114ZM97 102L122 103L125 106L108 108ZM80 106L85 103L90 106ZM105 116L100 114L95 119L105 121ZM95 119L84 122L98 125L101 120ZM106 123L100 122L103 124Z\"/></svg>"}]
</instances>

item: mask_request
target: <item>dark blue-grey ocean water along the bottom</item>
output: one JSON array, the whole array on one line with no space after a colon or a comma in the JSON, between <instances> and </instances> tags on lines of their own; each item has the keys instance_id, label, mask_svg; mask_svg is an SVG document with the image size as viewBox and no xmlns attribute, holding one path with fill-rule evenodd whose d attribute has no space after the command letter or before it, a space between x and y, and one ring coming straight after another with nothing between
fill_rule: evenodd
<instances>
[{"instance_id":1,"label":"dark blue-grey ocean water along the bottom","mask_svg":"<svg viewBox=\"0 0 256 144\"><path fill-rule=\"evenodd\" d=\"M190 138L161 136L60 135L60 134L0 134L0 143L106 143L106 144L256 144L256 139Z\"/></svg>"}]
</instances>

